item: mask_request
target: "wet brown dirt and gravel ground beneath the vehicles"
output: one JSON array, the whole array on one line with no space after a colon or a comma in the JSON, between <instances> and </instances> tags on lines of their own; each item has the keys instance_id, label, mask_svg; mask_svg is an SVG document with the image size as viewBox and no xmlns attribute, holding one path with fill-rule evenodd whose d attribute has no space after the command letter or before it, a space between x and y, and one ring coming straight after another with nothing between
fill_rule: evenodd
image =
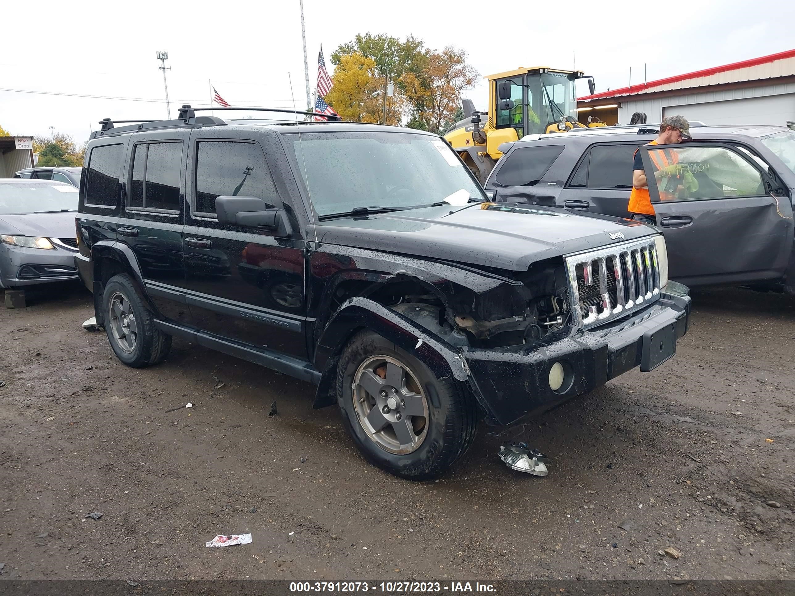
<instances>
[{"instance_id":1,"label":"wet brown dirt and gravel ground beneath the vehicles","mask_svg":"<svg viewBox=\"0 0 795 596\"><path fill-rule=\"evenodd\" d=\"M80 288L0 309L3 579L795 577L791 296L694 292L673 361L526 426L546 478L483 427L421 483L311 385L179 341L130 369L92 314ZM253 542L204 547L231 532Z\"/></svg>"}]
</instances>

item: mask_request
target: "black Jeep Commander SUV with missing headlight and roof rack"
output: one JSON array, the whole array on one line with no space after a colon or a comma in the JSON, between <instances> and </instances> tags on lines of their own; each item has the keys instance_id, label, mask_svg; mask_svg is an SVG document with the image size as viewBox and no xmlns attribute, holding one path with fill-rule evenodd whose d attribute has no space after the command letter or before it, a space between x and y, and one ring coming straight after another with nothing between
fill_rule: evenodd
<instances>
[{"instance_id":1,"label":"black Jeep Commander SUV with missing headlight and roof rack","mask_svg":"<svg viewBox=\"0 0 795 596\"><path fill-rule=\"evenodd\" d=\"M86 156L76 262L118 358L156 364L176 336L311 381L405 478L687 330L656 230L490 203L433 134L184 106L104 122Z\"/></svg>"}]
</instances>

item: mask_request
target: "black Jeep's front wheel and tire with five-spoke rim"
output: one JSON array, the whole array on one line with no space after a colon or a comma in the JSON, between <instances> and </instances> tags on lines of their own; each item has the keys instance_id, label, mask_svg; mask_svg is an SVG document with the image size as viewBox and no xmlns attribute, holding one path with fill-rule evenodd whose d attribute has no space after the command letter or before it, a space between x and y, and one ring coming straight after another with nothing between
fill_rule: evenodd
<instances>
[{"instance_id":1,"label":"black Jeep's front wheel and tire with five-spoke rim","mask_svg":"<svg viewBox=\"0 0 795 596\"><path fill-rule=\"evenodd\" d=\"M437 478L471 446L478 409L452 377L372 331L343 350L337 401L351 438L376 466L402 478Z\"/></svg>"}]
</instances>

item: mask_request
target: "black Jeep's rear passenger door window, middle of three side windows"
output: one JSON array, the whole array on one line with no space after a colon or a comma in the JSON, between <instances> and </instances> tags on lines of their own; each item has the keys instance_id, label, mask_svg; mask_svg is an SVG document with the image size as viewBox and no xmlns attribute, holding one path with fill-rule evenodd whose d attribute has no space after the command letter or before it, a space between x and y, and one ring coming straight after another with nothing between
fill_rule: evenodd
<instances>
[{"instance_id":1,"label":"black Jeep's rear passenger door window, middle of three side windows","mask_svg":"<svg viewBox=\"0 0 795 596\"><path fill-rule=\"evenodd\" d=\"M130 207L180 210L182 142L135 146Z\"/></svg>"}]
</instances>

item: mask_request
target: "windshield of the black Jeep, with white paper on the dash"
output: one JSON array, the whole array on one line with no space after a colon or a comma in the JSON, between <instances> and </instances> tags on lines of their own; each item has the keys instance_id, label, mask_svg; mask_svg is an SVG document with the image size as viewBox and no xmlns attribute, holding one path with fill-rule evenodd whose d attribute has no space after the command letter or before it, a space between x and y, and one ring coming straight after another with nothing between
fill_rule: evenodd
<instances>
[{"instance_id":1,"label":"windshield of the black Jeep, with white paper on the dash","mask_svg":"<svg viewBox=\"0 0 795 596\"><path fill-rule=\"evenodd\" d=\"M439 137L387 132L285 134L317 215L486 200Z\"/></svg>"}]
</instances>

